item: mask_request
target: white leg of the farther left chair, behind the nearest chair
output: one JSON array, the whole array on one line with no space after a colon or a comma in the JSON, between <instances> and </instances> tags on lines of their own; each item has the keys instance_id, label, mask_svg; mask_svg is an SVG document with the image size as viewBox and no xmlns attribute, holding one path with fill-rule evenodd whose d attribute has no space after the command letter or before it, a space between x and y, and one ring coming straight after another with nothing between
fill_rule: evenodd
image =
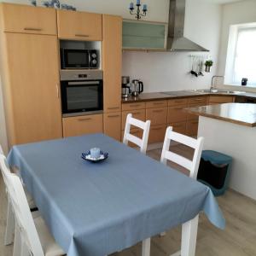
<instances>
[{"instance_id":1,"label":"white leg of the farther left chair, behind the nearest chair","mask_svg":"<svg viewBox=\"0 0 256 256\"><path fill-rule=\"evenodd\" d=\"M12 211L11 204L8 201L4 245L9 245L14 241L14 233L15 233L15 216L14 216L14 212Z\"/></svg>"}]
</instances>

